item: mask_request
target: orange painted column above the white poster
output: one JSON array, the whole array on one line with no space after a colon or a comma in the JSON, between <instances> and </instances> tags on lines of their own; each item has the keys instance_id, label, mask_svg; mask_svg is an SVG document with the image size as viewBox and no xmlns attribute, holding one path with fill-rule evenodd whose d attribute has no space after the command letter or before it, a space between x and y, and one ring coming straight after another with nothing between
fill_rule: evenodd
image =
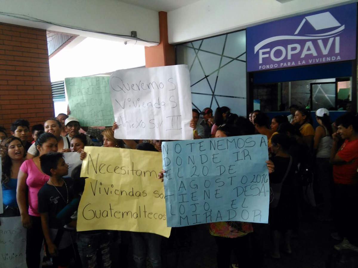
<instances>
[{"instance_id":1,"label":"orange painted column above the white poster","mask_svg":"<svg viewBox=\"0 0 358 268\"><path fill-rule=\"evenodd\" d=\"M165 11L159 11L159 45L145 47L145 67L175 64L174 46L168 43L168 20Z\"/></svg>"}]
</instances>

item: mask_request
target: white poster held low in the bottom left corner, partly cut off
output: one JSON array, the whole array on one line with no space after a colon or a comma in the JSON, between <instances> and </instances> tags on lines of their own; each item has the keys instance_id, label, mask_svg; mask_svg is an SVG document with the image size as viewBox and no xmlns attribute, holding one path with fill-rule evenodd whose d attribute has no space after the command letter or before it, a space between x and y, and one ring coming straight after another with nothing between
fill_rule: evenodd
<instances>
[{"instance_id":1,"label":"white poster held low in the bottom left corner, partly cut off","mask_svg":"<svg viewBox=\"0 0 358 268\"><path fill-rule=\"evenodd\" d=\"M25 268L26 229L21 217L0 218L0 267Z\"/></svg>"}]
</instances>

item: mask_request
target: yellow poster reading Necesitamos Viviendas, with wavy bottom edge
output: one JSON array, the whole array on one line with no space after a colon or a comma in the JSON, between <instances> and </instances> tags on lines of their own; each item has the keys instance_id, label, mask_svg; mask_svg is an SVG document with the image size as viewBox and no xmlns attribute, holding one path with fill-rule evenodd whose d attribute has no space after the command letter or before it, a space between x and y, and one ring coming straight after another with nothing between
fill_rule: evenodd
<instances>
[{"instance_id":1,"label":"yellow poster reading Necesitamos Viviendas, with wavy bottom edge","mask_svg":"<svg viewBox=\"0 0 358 268\"><path fill-rule=\"evenodd\" d=\"M77 231L125 230L169 237L160 152L85 147L88 177L78 207Z\"/></svg>"}]
</instances>

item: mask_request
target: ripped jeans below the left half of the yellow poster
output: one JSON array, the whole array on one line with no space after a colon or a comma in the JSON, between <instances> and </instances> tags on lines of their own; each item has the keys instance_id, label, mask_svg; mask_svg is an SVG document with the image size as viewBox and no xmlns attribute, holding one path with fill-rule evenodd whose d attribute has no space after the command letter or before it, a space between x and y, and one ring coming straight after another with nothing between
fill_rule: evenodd
<instances>
[{"instance_id":1,"label":"ripped jeans below the left half of the yellow poster","mask_svg":"<svg viewBox=\"0 0 358 268\"><path fill-rule=\"evenodd\" d=\"M100 262L103 268L111 267L110 258L110 238L106 231L99 233L86 234L86 232L77 233L77 247L78 253L81 257L82 267L96 268L97 265L97 252L101 253Z\"/></svg>"}]
</instances>

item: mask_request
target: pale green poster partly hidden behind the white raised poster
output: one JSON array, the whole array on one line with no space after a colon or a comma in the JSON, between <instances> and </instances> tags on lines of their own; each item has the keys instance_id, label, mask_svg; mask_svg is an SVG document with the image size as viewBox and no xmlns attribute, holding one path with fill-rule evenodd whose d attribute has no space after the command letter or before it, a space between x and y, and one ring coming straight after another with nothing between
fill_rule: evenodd
<instances>
[{"instance_id":1,"label":"pale green poster partly hidden behind the white raised poster","mask_svg":"<svg viewBox=\"0 0 358 268\"><path fill-rule=\"evenodd\" d=\"M65 78L70 116L83 127L112 126L113 108L109 76Z\"/></svg>"}]
</instances>

